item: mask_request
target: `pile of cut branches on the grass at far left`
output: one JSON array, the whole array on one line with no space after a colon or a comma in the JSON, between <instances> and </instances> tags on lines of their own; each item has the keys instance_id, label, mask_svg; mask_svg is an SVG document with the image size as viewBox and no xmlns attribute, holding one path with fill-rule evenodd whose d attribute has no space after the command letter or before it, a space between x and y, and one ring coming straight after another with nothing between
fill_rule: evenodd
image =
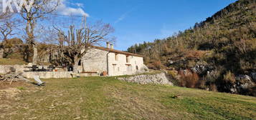
<instances>
[{"instance_id":1,"label":"pile of cut branches on the grass at far left","mask_svg":"<svg viewBox=\"0 0 256 120\"><path fill-rule=\"evenodd\" d=\"M12 82L18 82L18 81L31 82L29 81L29 79L26 79L24 76L22 76L22 73L14 73L14 72L11 72L5 75L0 75L0 84L6 81L9 82L10 84Z\"/></svg>"}]
</instances>

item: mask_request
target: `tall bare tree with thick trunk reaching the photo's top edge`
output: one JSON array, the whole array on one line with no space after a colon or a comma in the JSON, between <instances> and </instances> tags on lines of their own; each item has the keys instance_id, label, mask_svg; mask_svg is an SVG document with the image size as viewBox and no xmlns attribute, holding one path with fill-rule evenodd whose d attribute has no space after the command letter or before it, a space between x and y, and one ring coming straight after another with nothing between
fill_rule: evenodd
<instances>
[{"instance_id":1,"label":"tall bare tree with thick trunk reaching the photo's top edge","mask_svg":"<svg viewBox=\"0 0 256 120\"><path fill-rule=\"evenodd\" d=\"M27 2L29 0L26 0ZM35 0L30 11L22 6L21 16L26 21L27 44L33 48L33 64L37 64L37 41L34 39L34 29L38 19L43 19L57 9L59 0Z\"/></svg>"}]
</instances>

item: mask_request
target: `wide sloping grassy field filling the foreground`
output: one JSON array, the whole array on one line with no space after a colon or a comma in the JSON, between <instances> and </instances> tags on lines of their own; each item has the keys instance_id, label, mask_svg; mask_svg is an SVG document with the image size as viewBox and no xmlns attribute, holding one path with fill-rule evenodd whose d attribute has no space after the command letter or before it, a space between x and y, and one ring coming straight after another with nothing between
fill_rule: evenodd
<instances>
[{"instance_id":1,"label":"wide sloping grassy field filling the foreground","mask_svg":"<svg viewBox=\"0 0 256 120\"><path fill-rule=\"evenodd\" d=\"M256 98L113 77L46 79L1 97L0 119L255 119ZM178 98L174 96L179 96Z\"/></svg>"}]
</instances>

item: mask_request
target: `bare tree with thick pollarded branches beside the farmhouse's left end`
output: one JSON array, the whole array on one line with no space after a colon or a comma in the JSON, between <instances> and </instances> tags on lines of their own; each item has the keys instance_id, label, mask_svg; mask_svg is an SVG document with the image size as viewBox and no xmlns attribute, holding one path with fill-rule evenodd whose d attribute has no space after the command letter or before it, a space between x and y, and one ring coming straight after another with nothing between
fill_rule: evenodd
<instances>
[{"instance_id":1,"label":"bare tree with thick pollarded branches beside the farmhouse's left end","mask_svg":"<svg viewBox=\"0 0 256 120\"><path fill-rule=\"evenodd\" d=\"M85 56L92 46L104 41L113 42L113 38L108 37L114 31L113 27L110 24L103 24L101 21L93 26L85 26L77 30L75 26L71 25L67 36L60 29L57 31L60 51L65 59L70 61L75 73L78 72L78 64L82 56Z\"/></svg>"}]
</instances>

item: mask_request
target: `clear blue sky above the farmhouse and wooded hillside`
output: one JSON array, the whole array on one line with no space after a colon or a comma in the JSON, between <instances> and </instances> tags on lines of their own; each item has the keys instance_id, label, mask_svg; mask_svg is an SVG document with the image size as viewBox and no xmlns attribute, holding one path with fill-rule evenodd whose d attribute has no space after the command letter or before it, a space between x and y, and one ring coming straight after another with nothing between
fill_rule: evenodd
<instances>
[{"instance_id":1,"label":"clear blue sky above the farmhouse and wooded hillside","mask_svg":"<svg viewBox=\"0 0 256 120\"><path fill-rule=\"evenodd\" d=\"M67 1L67 0L65 0ZM103 20L115 28L115 49L153 41L183 31L236 0L70 0L90 21Z\"/></svg>"}]
</instances>

